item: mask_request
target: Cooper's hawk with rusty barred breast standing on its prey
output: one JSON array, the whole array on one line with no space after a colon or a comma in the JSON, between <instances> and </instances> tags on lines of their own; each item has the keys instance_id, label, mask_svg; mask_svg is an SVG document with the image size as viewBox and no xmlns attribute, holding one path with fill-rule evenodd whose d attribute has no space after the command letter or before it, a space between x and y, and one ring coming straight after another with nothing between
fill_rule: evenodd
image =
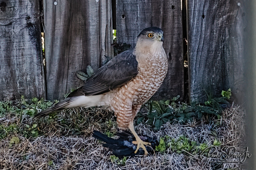
<instances>
[{"instance_id":1,"label":"Cooper's hawk with rusty barred breast standing on its prey","mask_svg":"<svg viewBox=\"0 0 256 170\"><path fill-rule=\"evenodd\" d=\"M133 127L140 107L160 87L168 70L163 48L163 31L149 27L140 32L136 46L116 55L87 78L84 86L71 92L67 99L38 113L39 118L65 108L105 106L114 111L120 130L129 128L136 138L133 144L148 152Z\"/></svg>"}]
</instances>

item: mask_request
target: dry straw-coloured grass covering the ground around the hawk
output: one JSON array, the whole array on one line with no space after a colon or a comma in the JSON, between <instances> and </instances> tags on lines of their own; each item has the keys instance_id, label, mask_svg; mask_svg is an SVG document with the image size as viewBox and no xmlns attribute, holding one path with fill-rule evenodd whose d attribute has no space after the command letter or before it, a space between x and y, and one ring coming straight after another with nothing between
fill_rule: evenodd
<instances>
[{"instance_id":1,"label":"dry straw-coloured grass covering the ground around the hawk","mask_svg":"<svg viewBox=\"0 0 256 170\"><path fill-rule=\"evenodd\" d=\"M70 111L70 110L69 110ZM72 113L74 112L74 113ZM82 112L84 112L82 114ZM80 115L81 113L81 115ZM153 156L138 156L128 158L125 166L116 165L110 161L111 151L103 148L92 137L92 130L104 131L106 126L106 112L102 109L73 109L67 113L61 112L60 117L69 117L70 126L67 129L60 122L38 123L38 128L43 131L42 136L22 137L14 133L0 141L0 168L1 169L240 169L239 163L212 163L212 158L191 153L174 153L167 148L164 154L156 152ZM80 119L78 117L80 116ZM81 116L84 120L81 121ZM8 115L0 119L0 124L18 124L19 117ZM25 118L27 119L27 118ZM191 122L187 125L166 123L159 131L152 131L148 125L135 126L135 130L148 136L163 137L169 135L172 138L185 135L190 140L198 143L213 144L215 139L221 142L220 148L236 146L237 150L243 150L244 142L244 112L237 106L224 110L220 125L202 122ZM26 120L25 120L26 121ZM77 123L79 122L80 123ZM104 128L102 128L104 127ZM80 128L80 134L74 135ZM112 124L112 130L115 124ZM72 132L73 131L73 132ZM72 132L72 133L71 133ZM217 136L213 135L217 134ZM9 146L13 136L19 137L18 144ZM235 159L233 159L235 160Z\"/></svg>"}]
</instances>

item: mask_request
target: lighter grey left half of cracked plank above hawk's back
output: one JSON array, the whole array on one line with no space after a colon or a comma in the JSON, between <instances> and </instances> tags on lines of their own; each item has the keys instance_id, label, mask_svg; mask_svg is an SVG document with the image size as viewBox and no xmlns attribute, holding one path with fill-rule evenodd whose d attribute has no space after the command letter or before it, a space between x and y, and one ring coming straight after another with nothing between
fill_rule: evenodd
<instances>
[{"instance_id":1,"label":"lighter grey left half of cracked plank above hawk's back","mask_svg":"<svg viewBox=\"0 0 256 170\"><path fill-rule=\"evenodd\" d=\"M137 36L151 26L151 0L116 0L116 40L135 47Z\"/></svg>"}]
</instances>

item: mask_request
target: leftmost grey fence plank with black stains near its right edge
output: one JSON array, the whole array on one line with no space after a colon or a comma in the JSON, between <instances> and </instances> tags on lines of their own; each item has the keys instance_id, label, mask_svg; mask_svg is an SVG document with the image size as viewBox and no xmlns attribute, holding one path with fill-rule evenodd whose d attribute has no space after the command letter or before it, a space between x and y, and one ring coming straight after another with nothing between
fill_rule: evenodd
<instances>
[{"instance_id":1,"label":"leftmost grey fence plank with black stains near its right edge","mask_svg":"<svg viewBox=\"0 0 256 170\"><path fill-rule=\"evenodd\" d=\"M39 2L0 1L0 100L45 97Z\"/></svg>"}]
</instances>

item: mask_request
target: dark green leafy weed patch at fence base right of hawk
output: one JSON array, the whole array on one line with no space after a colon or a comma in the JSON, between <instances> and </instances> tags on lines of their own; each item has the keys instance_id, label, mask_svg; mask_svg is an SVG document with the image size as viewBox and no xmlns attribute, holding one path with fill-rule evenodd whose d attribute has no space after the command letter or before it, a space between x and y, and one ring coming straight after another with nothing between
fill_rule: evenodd
<instances>
[{"instance_id":1,"label":"dark green leafy weed patch at fence base right of hawk","mask_svg":"<svg viewBox=\"0 0 256 170\"><path fill-rule=\"evenodd\" d=\"M229 94L228 94L229 95ZM192 102L190 104L177 103L180 96L172 98L172 100L149 101L145 104L148 108L147 114L139 113L136 123L146 123L160 129L161 126L170 121L175 123L191 122L193 119L197 121L205 115L208 121L211 122L212 117L220 118L222 113L222 105L229 104L227 97L211 98L208 95L208 101L202 103Z\"/></svg>"}]
</instances>

